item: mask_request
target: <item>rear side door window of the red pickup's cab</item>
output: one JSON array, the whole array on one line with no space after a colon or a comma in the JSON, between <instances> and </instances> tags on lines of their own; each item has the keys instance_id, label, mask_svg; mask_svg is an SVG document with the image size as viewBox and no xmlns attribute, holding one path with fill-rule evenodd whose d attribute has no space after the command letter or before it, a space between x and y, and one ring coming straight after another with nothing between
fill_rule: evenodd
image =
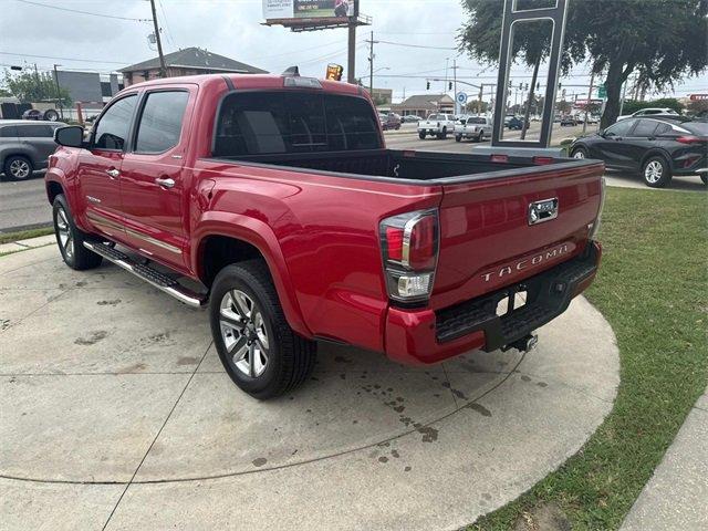
<instances>
[{"instance_id":1,"label":"rear side door window of the red pickup's cab","mask_svg":"<svg viewBox=\"0 0 708 531\"><path fill-rule=\"evenodd\" d=\"M135 150L149 154L175 147L179 143L188 100L189 93L186 91L147 94L138 123Z\"/></svg>"}]
</instances>

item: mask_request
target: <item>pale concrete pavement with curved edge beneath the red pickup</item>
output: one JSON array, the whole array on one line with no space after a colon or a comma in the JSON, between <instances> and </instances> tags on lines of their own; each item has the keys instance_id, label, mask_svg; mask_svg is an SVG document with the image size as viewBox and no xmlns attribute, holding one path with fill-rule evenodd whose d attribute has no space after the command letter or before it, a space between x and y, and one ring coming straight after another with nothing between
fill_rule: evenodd
<instances>
[{"instance_id":1,"label":"pale concrete pavement with curved edge beneath the red pickup","mask_svg":"<svg viewBox=\"0 0 708 531\"><path fill-rule=\"evenodd\" d=\"M458 529L575 454L620 382L584 299L527 355L418 368L321 344L266 403L223 373L206 312L116 267L0 258L0 312L8 530Z\"/></svg>"}]
</instances>

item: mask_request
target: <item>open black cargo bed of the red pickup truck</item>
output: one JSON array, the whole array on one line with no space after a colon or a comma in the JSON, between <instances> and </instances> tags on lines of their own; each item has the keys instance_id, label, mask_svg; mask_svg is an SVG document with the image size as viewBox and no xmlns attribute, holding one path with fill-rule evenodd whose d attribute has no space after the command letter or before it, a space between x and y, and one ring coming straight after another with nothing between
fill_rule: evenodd
<instances>
[{"instance_id":1,"label":"open black cargo bed of the red pickup truck","mask_svg":"<svg viewBox=\"0 0 708 531\"><path fill-rule=\"evenodd\" d=\"M488 178L528 175L530 167L544 164L546 169L564 169L596 163L580 159L559 159L548 164L545 159L508 156L506 160L492 160L489 155L413 152L397 149L367 149L358 152L296 153L219 157L218 160L280 166L290 170L335 173L342 177L376 178L376 180L425 181L452 184Z\"/></svg>"}]
</instances>

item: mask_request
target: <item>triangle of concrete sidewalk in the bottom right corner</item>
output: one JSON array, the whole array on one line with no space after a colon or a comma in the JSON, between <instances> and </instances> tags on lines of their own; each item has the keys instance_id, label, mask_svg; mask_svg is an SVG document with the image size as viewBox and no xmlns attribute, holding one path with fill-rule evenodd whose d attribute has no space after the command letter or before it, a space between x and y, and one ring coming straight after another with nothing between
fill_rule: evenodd
<instances>
[{"instance_id":1,"label":"triangle of concrete sidewalk in the bottom right corner","mask_svg":"<svg viewBox=\"0 0 708 531\"><path fill-rule=\"evenodd\" d=\"M708 389L686 417L622 531L708 529Z\"/></svg>"}]
</instances>

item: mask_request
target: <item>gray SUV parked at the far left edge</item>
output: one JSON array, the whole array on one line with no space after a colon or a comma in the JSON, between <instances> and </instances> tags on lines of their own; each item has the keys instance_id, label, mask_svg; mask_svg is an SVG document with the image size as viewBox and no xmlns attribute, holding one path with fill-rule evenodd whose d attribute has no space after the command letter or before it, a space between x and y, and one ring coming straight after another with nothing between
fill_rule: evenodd
<instances>
[{"instance_id":1,"label":"gray SUV parked at the far left edge","mask_svg":"<svg viewBox=\"0 0 708 531\"><path fill-rule=\"evenodd\" d=\"M0 119L0 168L6 177L24 180L35 169L44 169L56 149L54 129L63 125L66 124Z\"/></svg>"}]
</instances>

